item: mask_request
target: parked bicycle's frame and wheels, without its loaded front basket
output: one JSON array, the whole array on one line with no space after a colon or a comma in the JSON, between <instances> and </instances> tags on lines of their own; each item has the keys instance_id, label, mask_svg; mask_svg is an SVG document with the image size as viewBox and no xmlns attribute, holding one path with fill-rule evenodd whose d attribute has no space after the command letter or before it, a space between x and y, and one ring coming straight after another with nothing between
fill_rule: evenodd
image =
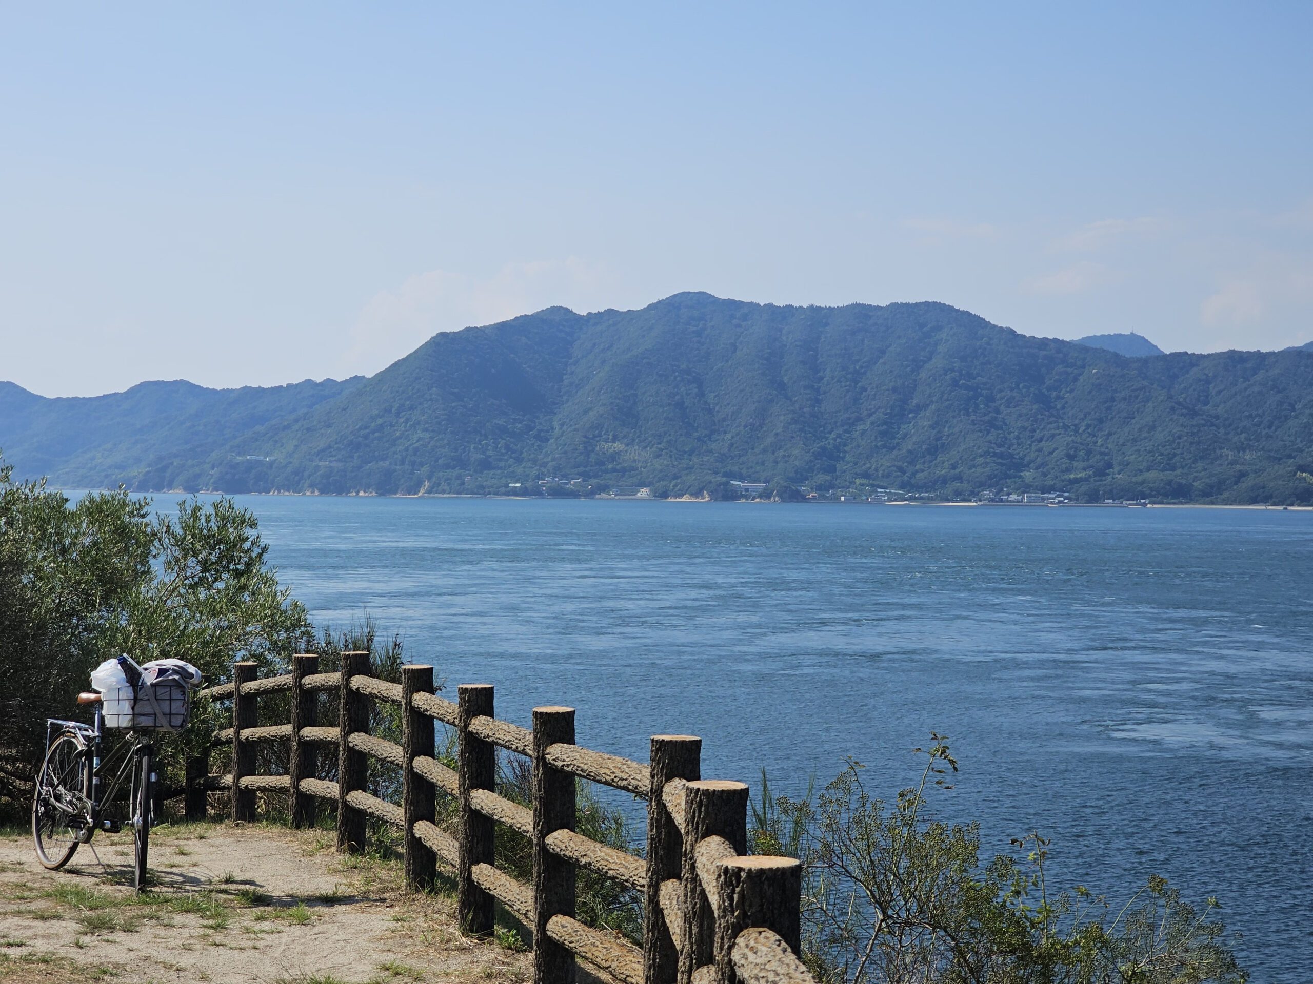
<instances>
[{"instance_id":1,"label":"parked bicycle's frame and wheels, without its loaded front basket","mask_svg":"<svg viewBox=\"0 0 1313 984\"><path fill-rule=\"evenodd\" d=\"M135 663L131 665L140 672ZM130 827L135 842L133 887L140 892L146 886L151 825L155 823L155 747L148 736L127 731L123 740L102 758L101 698L98 693L77 694L77 703L95 705L95 724L56 718L46 720L46 757L37 773L32 798L32 837L37 859L55 871L70 862L79 845L89 844L96 830L119 833L125 825ZM113 779L106 789L104 779L108 775ZM106 816L125 781L129 783L129 816Z\"/></svg>"}]
</instances>

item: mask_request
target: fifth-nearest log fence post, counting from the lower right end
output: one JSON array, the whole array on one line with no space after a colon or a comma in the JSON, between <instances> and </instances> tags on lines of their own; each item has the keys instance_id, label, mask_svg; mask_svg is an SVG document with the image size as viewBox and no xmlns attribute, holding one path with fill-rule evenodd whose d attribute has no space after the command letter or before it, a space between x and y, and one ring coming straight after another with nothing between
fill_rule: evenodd
<instances>
[{"instance_id":1,"label":"fifth-nearest log fence post, counting from the lower right end","mask_svg":"<svg viewBox=\"0 0 1313 984\"><path fill-rule=\"evenodd\" d=\"M470 720L492 716L492 685L457 687L456 727L460 733L461 857L456 884L456 911L466 933L492 932L492 896L474 884L475 865L492 863L492 820L470 806L470 790L496 786L496 749L470 733Z\"/></svg>"}]
</instances>

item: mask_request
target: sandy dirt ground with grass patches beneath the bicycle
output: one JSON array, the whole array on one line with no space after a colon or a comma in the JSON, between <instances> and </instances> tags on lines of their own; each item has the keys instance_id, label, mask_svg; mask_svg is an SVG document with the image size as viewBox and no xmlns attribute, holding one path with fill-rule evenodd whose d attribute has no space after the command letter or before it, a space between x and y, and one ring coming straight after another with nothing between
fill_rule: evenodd
<instances>
[{"instance_id":1,"label":"sandy dirt ground with grass patches beneath the bicycle","mask_svg":"<svg viewBox=\"0 0 1313 984\"><path fill-rule=\"evenodd\" d=\"M395 862L344 858L322 832L219 824L151 837L137 896L131 837L97 836L62 871L0 837L0 981L364 984L528 980L529 960L462 937L454 903L402 891ZM508 938L503 935L503 939Z\"/></svg>"}]
</instances>

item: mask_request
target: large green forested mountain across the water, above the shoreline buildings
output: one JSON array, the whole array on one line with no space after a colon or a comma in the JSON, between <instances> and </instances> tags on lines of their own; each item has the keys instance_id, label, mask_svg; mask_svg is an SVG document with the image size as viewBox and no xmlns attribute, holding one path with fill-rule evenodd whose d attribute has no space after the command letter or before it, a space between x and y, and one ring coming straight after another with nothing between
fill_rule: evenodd
<instances>
[{"instance_id":1,"label":"large green forested mountain across the water, above the shoreline buildings","mask_svg":"<svg viewBox=\"0 0 1313 984\"><path fill-rule=\"evenodd\" d=\"M230 492L536 491L555 476L674 495L733 479L1271 502L1313 501L1309 475L1306 352L1127 358L939 303L706 294L436 335L340 395L122 471L139 488Z\"/></svg>"}]
</instances>

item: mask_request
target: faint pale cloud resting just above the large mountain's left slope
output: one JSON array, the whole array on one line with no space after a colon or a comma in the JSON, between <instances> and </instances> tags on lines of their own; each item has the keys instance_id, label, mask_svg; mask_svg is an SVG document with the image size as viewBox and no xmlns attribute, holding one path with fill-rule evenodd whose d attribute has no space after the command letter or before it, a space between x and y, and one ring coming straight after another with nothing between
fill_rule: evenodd
<instances>
[{"instance_id":1,"label":"faint pale cloud resting just above the large mountain's left slope","mask_svg":"<svg viewBox=\"0 0 1313 984\"><path fill-rule=\"evenodd\" d=\"M605 279L601 266L578 257L504 265L488 277L428 270L381 290L361 308L344 357L348 371L372 371L407 354L437 332L494 324L553 304L587 308Z\"/></svg>"}]
</instances>

